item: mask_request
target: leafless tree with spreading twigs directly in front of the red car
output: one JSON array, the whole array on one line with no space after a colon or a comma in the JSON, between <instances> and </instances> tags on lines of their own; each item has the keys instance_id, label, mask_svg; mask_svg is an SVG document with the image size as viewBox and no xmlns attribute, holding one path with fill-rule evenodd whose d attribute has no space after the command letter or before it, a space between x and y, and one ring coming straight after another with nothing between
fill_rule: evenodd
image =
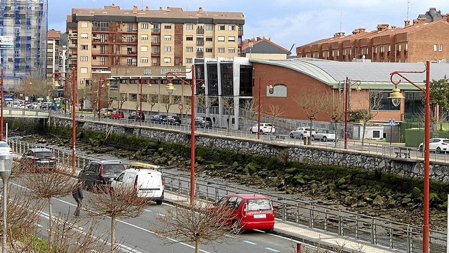
<instances>
[{"instance_id":1,"label":"leafless tree with spreading twigs directly in front of the red car","mask_svg":"<svg viewBox=\"0 0 449 253\"><path fill-rule=\"evenodd\" d=\"M194 243L196 253L199 253L201 244L223 242L230 231L240 231L232 210L224 205L211 208L211 205L199 201L193 205L177 203L174 208L165 208L165 216L157 219L160 224L152 228L158 235Z\"/></svg>"}]
</instances>

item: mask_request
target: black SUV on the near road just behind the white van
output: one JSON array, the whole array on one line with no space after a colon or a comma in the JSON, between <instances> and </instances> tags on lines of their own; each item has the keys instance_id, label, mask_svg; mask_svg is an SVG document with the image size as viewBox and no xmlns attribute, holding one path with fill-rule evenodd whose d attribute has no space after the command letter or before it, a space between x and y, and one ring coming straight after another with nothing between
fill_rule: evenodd
<instances>
[{"instance_id":1,"label":"black SUV on the near road just behind the white van","mask_svg":"<svg viewBox=\"0 0 449 253\"><path fill-rule=\"evenodd\" d=\"M111 181L126 168L120 160L90 162L78 174L86 187L110 185Z\"/></svg>"}]
</instances>

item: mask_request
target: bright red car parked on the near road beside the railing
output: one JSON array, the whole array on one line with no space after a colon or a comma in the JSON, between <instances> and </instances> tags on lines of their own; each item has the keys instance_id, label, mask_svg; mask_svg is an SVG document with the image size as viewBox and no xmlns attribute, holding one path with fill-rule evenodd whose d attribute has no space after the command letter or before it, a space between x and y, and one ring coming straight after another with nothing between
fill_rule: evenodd
<instances>
[{"instance_id":1,"label":"bright red car parked on the near road beside the railing","mask_svg":"<svg viewBox=\"0 0 449 253\"><path fill-rule=\"evenodd\" d=\"M259 194L228 194L215 202L211 209L224 205L232 210L231 220L235 228L261 229L271 233L275 227L275 210L271 200Z\"/></svg>"}]
</instances>

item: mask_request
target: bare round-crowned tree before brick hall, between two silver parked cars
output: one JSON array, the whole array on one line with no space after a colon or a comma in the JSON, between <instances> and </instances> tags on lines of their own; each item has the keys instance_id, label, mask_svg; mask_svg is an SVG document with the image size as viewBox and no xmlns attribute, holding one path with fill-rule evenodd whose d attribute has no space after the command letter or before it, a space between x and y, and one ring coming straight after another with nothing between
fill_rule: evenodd
<instances>
[{"instance_id":1,"label":"bare round-crowned tree before brick hall, between two silver parked cars","mask_svg":"<svg viewBox=\"0 0 449 253\"><path fill-rule=\"evenodd\" d=\"M329 101L326 99L328 96L323 96L322 94L322 89L314 87L308 93L304 93L295 99L296 104L303 108L306 112L307 119L310 120L311 132L313 129L313 120L316 119L320 112L329 107Z\"/></svg>"}]
</instances>

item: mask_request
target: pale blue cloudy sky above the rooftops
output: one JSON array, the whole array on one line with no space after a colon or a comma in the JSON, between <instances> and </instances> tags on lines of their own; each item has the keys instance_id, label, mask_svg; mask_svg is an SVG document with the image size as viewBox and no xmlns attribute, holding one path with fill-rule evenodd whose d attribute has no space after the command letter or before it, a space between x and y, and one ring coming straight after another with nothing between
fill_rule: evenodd
<instances>
[{"instance_id":1,"label":"pale blue cloudy sky above the rooftops","mask_svg":"<svg viewBox=\"0 0 449 253\"><path fill-rule=\"evenodd\" d=\"M171 6L197 10L202 6L205 11L243 12L243 38L270 37L290 50L293 44L297 47L332 37L340 31L340 19L346 34L361 27L374 30L383 23L402 27L408 1L410 20L430 7L449 13L448 0L144 0L143 5L151 9ZM48 0L48 29L65 31L71 8L103 8L112 2L122 9L142 6L141 0Z\"/></svg>"}]
</instances>

